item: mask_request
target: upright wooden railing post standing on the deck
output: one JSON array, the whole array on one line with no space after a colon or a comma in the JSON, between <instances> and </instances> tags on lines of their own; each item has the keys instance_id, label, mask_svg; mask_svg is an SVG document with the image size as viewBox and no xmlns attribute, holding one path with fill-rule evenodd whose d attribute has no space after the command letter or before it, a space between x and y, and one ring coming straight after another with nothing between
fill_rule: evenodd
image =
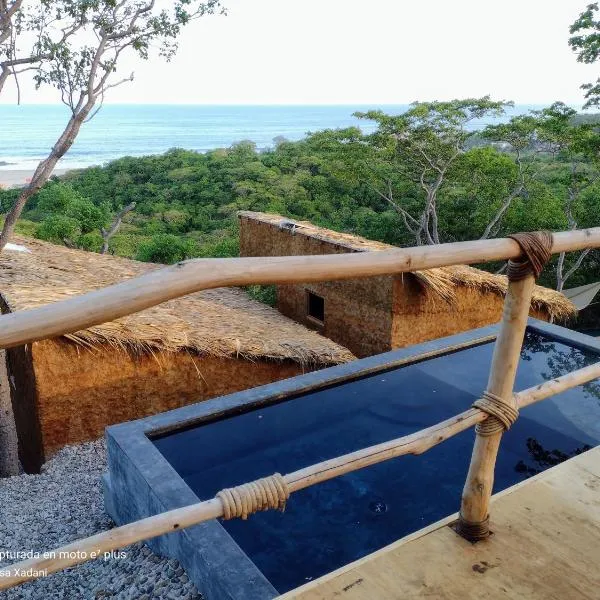
<instances>
[{"instance_id":1,"label":"upright wooden railing post standing on the deck","mask_svg":"<svg viewBox=\"0 0 600 600\"><path fill-rule=\"evenodd\" d=\"M510 401L525 337L535 278L509 281L500 333L494 347L487 391ZM502 431L475 435L471 464L463 489L457 531L472 541L489 535L489 504L494 486L494 468Z\"/></svg>"}]
</instances>

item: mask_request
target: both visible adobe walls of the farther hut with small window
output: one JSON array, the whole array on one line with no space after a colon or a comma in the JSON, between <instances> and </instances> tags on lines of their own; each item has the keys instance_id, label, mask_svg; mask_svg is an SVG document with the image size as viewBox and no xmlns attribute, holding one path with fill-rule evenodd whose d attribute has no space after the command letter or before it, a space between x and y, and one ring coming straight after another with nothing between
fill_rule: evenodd
<instances>
[{"instance_id":1,"label":"both visible adobe walls of the farther hut with small window","mask_svg":"<svg viewBox=\"0 0 600 600\"><path fill-rule=\"evenodd\" d=\"M292 233L277 225L240 216L242 256L340 254L356 250L328 240ZM325 324L306 315L306 291L325 299ZM286 316L348 348L362 358L396 348L498 323L504 298L467 286L456 288L457 302L431 298L411 275L332 283L281 285L277 308ZM547 321L545 312L532 317Z\"/></svg>"}]
</instances>

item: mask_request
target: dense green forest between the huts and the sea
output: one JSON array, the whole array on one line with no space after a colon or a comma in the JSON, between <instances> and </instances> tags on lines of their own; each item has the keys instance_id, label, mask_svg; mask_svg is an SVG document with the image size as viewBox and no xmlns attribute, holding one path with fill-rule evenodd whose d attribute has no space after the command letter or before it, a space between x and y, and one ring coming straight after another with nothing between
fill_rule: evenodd
<instances>
[{"instance_id":1,"label":"dense green forest between the huts and the sea","mask_svg":"<svg viewBox=\"0 0 600 600\"><path fill-rule=\"evenodd\" d=\"M476 127L505 109L487 97L415 103L401 115L359 114L376 125L368 134L325 130L298 142L276 139L263 151L242 141L205 154L173 149L121 158L50 181L18 231L172 263L235 256L238 210L398 246L597 226L598 119L556 103ZM1 212L17 193L0 192ZM597 251L557 257L543 283L562 289L599 273Z\"/></svg>"}]
</instances>

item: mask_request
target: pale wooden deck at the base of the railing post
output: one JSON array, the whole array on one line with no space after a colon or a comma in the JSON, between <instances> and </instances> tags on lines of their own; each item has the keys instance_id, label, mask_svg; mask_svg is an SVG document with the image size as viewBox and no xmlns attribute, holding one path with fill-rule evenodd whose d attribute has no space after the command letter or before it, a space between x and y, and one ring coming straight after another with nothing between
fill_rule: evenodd
<instances>
[{"instance_id":1,"label":"pale wooden deck at the base of the railing post","mask_svg":"<svg viewBox=\"0 0 600 600\"><path fill-rule=\"evenodd\" d=\"M484 542L453 515L280 600L600 598L600 447L497 494L491 514Z\"/></svg>"}]
</instances>

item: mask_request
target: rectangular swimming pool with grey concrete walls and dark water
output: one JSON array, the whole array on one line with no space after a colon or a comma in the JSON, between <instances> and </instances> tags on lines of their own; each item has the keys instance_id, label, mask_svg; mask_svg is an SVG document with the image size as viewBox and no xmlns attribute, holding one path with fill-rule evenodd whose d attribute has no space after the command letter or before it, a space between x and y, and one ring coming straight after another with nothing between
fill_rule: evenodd
<instances>
[{"instance_id":1,"label":"rectangular swimming pool with grey concrete walls and dark water","mask_svg":"<svg viewBox=\"0 0 600 600\"><path fill-rule=\"evenodd\" d=\"M128 496L140 496L142 481L150 497L174 508L453 416L485 388L496 333L484 328L110 428L107 504L128 504ZM596 340L532 320L516 389L596 362L599 353ZM494 491L600 443L599 417L594 383L525 408L503 438ZM273 597L455 512L472 447L473 432L466 431L421 456L302 490L284 514L213 522L219 535L198 532L184 554L200 565L201 589L210 579L209 597ZM128 482L132 473L137 481ZM181 497L173 490L165 496L165 484ZM144 515L140 510L133 518ZM161 539L176 546L169 538L184 534ZM181 559L181 549L171 551ZM236 579L240 589L245 581L242 595L231 595L218 572L220 552L243 557Z\"/></svg>"}]
</instances>

